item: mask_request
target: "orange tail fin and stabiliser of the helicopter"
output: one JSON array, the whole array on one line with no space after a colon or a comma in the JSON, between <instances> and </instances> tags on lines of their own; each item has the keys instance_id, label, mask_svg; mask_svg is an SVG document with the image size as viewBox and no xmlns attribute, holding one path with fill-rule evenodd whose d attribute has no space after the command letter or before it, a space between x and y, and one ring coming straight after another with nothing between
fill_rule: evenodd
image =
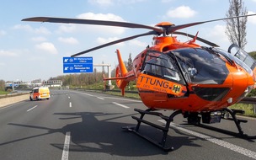
<instances>
[{"instance_id":1,"label":"orange tail fin and stabiliser of the helicopter","mask_svg":"<svg viewBox=\"0 0 256 160\"><path fill-rule=\"evenodd\" d=\"M117 59L118 59L118 66L115 69L115 77L104 78L106 80L115 80L116 86L120 88L122 92L122 96L125 95L125 87L126 85L135 78L133 71L128 72L125 63L121 57L120 51L116 50Z\"/></svg>"}]
</instances>

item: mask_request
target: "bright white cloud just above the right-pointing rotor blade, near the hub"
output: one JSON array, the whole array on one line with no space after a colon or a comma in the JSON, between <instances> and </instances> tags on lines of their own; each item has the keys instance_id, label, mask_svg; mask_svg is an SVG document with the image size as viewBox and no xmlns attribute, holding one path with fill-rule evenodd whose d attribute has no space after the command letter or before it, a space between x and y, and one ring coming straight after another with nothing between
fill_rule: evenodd
<instances>
[{"instance_id":1,"label":"bright white cloud just above the right-pointing rotor blade, near the hub","mask_svg":"<svg viewBox=\"0 0 256 160\"><path fill-rule=\"evenodd\" d=\"M196 12L188 6L180 6L178 8L169 9L167 16L170 18L191 18L195 16Z\"/></svg>"}]
</instances>

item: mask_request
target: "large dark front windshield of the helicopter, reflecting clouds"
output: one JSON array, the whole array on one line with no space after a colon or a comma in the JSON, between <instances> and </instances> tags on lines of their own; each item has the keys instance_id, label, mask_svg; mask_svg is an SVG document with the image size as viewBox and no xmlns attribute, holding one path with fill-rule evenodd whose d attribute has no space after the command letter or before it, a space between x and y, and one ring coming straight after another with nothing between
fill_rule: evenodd
<instances>
[{"instance_id":1,"label":"large dark front windshield of the helicopter, reflecting clouds","mask_svg":"<svg viewBox=\"0 0 256 160\"><path fill-rule=\"evenodd\" d=\"M214 51L204 48L184 48L170 51L175 55L184 77L189 83L221 84L228 75L226 61Z\"/></svg>"}]
</instances>

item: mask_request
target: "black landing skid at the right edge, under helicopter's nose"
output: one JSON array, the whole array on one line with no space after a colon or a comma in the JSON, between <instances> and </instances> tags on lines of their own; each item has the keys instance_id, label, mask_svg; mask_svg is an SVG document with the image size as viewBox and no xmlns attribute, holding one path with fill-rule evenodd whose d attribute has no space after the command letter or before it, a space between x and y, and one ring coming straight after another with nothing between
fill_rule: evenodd
<instances>
[{"instance_id":1,"label":"black landing skid at the right edge, under helicopter's nose","mask_svg":"<svg viewBox=\"0 0 256 160\"><path fill-rule=\"evenodd\" d=\"M200 127L203 127L205 129L209 129L209 130L212 130L212 131L218 131L218 132L221 132L221 133L224 133L224 134L227 134L227 135L236 136L236 137L247 139L247 140L256 139L256 136L248 136L247 134L244 134L244 132L243 132L243 129L241 127L241 123L247 123L248 120L239 120L239 119L237 119L237 113L244 114L243 110L240 110L240 109L227 109L226 108L226 109L222 109L222 111L226 111L232 117L231 118L224 118L225 115L222 115L221 118L225 119L225 120L232 120L232 121L234 121L235 125L237 126L237 131L238 132L227 131L227 130L224 130L224 129L216 128L216 127L213 127L213 126L210 126L210 125L203 125L203 124L200 124L200 123L196 124L196 125L200 126Z\"/></svg>"}]
</instances>

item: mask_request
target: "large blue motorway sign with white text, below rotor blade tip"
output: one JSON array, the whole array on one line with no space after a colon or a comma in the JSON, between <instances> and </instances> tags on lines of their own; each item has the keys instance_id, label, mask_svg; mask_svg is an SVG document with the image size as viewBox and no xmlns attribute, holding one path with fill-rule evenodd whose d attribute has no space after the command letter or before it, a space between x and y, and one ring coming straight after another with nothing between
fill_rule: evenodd
<instances>
[{"instance_id":1,"label":"large blue motorway sign with white text, below rotor blade tip","mask_svg":"<svg viewBox=\"0 0 256 160\"><path fill-rule=\"evenodd\" d=\"M63 57L63 72L93 72L93 57Z\"/></svg>"}]
</instances>

